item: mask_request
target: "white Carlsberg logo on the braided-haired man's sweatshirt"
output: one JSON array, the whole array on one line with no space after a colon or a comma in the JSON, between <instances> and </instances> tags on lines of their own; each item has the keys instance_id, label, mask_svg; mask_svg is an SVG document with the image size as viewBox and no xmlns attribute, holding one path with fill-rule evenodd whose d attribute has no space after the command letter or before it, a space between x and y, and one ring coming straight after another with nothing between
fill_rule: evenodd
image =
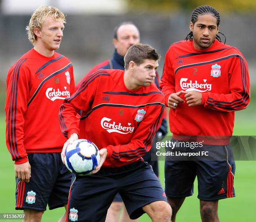
<instances>
[{"instance_id":1,"label":"white Carlsberg logo on the braided-haired man's sweatshirt","mask_svg":"<svg viewBox=\"0 0 256 222\"><path fill-rule=\"evenodd\" d=\"M212 90L212 84L208 84L206 81L207 79L204 79L204 83L198 83L197 80L195 82L192 82L192 80L187 81L188 78L181 78L179 83L180 87L185 91L197 91L197 92L206 92Z\"/></svg>"}]
</instances>

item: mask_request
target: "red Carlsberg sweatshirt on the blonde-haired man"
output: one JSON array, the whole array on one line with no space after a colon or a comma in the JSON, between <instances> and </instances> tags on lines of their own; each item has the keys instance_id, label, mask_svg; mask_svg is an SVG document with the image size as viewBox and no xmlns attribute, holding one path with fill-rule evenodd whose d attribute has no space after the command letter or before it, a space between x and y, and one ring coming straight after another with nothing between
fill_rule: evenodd
<instances>
[{"instance_id":1,"label":"red Carlsberg sweatshirt on the blonde-haired man","mask_svg":"<svg viewBox=\"0 0 256 222\"><path fill-rule=\"evenodd\" d=\"M15 164L27 153L61 152L66 138L58 114L74 93L73 67L59 53L51 57L31 49L9 70L6 92L6 144Z\"/></svg>"}]
</instances>

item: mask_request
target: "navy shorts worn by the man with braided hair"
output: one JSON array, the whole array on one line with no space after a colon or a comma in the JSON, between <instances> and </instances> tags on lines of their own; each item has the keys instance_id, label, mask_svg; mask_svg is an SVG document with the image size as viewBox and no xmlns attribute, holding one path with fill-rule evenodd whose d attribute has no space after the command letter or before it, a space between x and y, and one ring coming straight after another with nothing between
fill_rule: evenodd
<instances>
[{"instance_id":1,"label":"navy shorts worn by the man with braided hair","mask_svg":"<svg viewBox=\"0 0 256 222\"><path fill-rule=\"evenodd\" d=\"M233 180L235 161L230 146L204 145L205 150L218 150L222 161L165 161L165 192L170 198L188 197L193 194L195 177L198 181L198 198L215 201L235 197Z\"/></svg>"}]
</instances>

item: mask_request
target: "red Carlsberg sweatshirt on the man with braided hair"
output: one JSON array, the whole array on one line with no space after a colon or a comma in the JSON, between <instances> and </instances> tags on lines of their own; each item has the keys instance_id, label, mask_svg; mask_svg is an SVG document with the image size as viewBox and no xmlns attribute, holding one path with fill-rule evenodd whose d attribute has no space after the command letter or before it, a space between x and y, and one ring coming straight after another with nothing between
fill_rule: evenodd
<instances>
[{"instance_id":1,"label":"red Carlsberg sweatshirt on the man with braided hair","mask_svg":"<svg viewBox=\"0 0 256 222\"><path fill-rule=\"evenodd\" d=\"M181 90L202 93L201 106L189 107L182 94L185 102L170 110L169 125L174 139L184 135L212 139L232 136L234 111L246 108L250 101L245 58L239 50L218 40L205 50L196 50L193 41L172 44L166 53L161 81L166 106L171 93ZM225 145L228 139L213 143Z\"/></svg>"}]
</instances>

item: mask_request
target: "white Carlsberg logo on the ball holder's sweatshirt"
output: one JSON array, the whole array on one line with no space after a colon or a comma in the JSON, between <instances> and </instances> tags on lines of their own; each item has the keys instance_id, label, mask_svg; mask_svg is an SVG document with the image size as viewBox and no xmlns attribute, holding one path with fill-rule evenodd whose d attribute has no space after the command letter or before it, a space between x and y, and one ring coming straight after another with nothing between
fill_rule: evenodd
<instances>
[{"instance_id":1,"label":"white Carlsberg logo on the ball holder's sweatshirt","mask_svg":"<svg viewBox=\"0 0 256 222\"><path fill-rule=\"evenodd\" d=\"M100 121L100 125L103 129L106 129L109 133L119 133L119 134L128 134L132 133L134 127L131 127L131 123L128 123L128 126L122 126L121 123L116 124L115 121L110 122L112 119L103 117Z\"/></svg>"}]
</instances>

